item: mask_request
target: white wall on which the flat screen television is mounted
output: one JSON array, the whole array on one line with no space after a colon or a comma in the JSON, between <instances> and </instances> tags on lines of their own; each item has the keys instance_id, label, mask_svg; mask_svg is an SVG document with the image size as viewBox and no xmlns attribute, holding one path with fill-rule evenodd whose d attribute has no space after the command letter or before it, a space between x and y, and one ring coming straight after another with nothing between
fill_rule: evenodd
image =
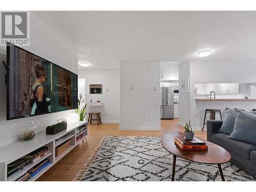
<instances>
[{"instance_id":1,"label":"white wall on which the flat screen television is mounted","mask_svg":"<svg viewBox=\"0 0 256 192\"><path fill-rule=\"evenodd\" d=\"M23 48L77 74L77 48L65 39L60 38L32 12L30 12L30 46ZM5 53L5 47L1 48L1 53ZM4 55L4 57L6 56ZM45 131L47 125L55 123L59 118L67 118L67 116L74 111L69 110L56 114L53 113L7 121L6 85L4 83L5 71L4 68L2 68L1 63L0 90L2 91L2 97L0 99L0 146L12 143L18 139L19 126L22 122L33 120L36 124L37 132L41 132Z\"/></svg>"}]
</instances>

